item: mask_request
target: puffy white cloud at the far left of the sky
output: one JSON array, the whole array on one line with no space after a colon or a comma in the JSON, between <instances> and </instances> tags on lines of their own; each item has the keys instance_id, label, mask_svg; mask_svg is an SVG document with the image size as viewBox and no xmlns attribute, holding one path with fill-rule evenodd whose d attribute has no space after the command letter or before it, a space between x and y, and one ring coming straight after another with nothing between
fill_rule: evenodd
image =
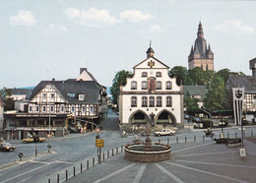
<instances>
[{"instance_id":1,"label":"puffy white cloud at the far left of the sky","mask_svg":"<svg viewBox=\"0 0 256 183\"><path fill-rule=\"evenodd\" d=\"M11 16L9 18L9 24L11 26L29 26L32 27L37 22L34 19L31 11L20 10L17 16Z\"/></svg>"}]
</instances>

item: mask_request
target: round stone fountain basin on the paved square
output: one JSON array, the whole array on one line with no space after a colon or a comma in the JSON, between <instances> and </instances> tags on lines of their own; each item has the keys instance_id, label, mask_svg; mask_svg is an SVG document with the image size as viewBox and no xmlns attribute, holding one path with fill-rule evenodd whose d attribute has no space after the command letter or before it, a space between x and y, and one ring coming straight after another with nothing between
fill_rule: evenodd
<instances>
[{"instance_id":1,"label":"round stone fountain basin on the paved square","mask_svg":"<svg viewBox=\"0 0 256 183\"><path fill-rule=\"evenodd\" d=\"M146 150L144 144L125 146L125 157L134 162L159 162L170 159L171 148L168 145L155 144Z\"/></svg>"}]
</instances>

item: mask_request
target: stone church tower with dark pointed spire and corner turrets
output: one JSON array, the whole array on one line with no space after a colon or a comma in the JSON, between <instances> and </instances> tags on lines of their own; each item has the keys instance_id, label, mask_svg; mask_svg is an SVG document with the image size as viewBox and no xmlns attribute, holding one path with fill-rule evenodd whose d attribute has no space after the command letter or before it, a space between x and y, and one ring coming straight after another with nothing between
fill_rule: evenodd
<instances>
[{"instance_id":1,"label":"stone church tower with dark pointed spire and corner turrets","mask_svg":"<svg viewBox=\"0 0 256 183\"><path fill-rule=\"evenodd\" d=\"M188 56L188 68L195 67L201 67L204 71L214 70L214 53L210 44L207 46L201 22L198 26L197 39Z\"/></svg>"}]
</instances>

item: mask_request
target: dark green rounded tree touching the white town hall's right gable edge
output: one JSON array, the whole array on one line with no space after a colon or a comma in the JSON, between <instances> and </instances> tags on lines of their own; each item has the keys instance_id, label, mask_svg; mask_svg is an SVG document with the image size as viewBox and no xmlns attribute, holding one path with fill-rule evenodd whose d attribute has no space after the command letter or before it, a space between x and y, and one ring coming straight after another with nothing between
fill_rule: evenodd
<instances>
[{"instance_id":1,"label":"dark green rounded tree touching the white town hall's right gable edge","mask_svg":"<svg viewBox=\"0 0 256 183\"><path fill-rule=\"evenodd\" d=\"M169 71L170 78L176 78L176 84L178 86L190 86L192 85L192 80L188 77L187 68L182 66L175 66Z\"/></svg>"}]
</instances>

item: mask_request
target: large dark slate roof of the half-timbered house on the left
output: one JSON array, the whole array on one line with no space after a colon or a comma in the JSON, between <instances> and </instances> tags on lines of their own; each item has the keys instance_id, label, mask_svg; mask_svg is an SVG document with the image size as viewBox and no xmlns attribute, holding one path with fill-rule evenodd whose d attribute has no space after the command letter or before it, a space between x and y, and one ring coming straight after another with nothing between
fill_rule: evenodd
<instances>
[{"instance_id":1,"label":"large dark slate roof of the half-timbered house on the left","mask_svg":"<svg viewBox=\"0 0 256 183\"><path fill-rule=\"evenodd\" d=\"M48 84L55 87L68 103L97 103L98 95L102 91L95 81L76 81L69 79L66 81L41 81L32 91L31 99ZM70 93L75 96L71 97ZM85 94L83 101L79 100L79 94Z\"/></svg>"}]
</instances>

